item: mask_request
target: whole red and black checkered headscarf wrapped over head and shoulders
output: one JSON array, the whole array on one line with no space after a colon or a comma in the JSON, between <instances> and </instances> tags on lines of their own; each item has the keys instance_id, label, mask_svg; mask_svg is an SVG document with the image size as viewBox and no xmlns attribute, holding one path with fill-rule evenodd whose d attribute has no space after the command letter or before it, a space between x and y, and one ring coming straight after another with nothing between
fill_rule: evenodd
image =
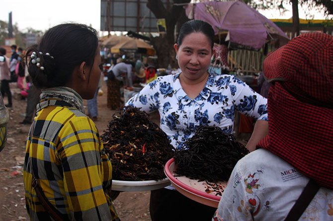
<instances>
[{"instance_id":1,"label":"whole red and black checkered headscarf wrapped over head and shoulders","mask_svg":"<svg viewBox=\"0 0 333 221\"><path fill-rule=\"evenodd\" d=\"M333 189L333 36L300 35L263 63L269 134L257 147Z\"/></svg>"}]
</instances>

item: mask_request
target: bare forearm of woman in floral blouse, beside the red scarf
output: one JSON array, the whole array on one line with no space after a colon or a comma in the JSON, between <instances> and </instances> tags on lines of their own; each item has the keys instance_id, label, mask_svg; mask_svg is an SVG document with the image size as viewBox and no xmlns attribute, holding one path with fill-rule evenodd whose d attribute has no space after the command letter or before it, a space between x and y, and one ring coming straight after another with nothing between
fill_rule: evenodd
<instances>
[{"instance_id":1,"label":"bare forearm of woman in floral blouse, beside the red scarf","mask_svg":"<svg viewBox=\"0 0 333 221\"><path fill-rule=\"evenodd\" d=\"M268 121L266 120L257 120L250 140L246 146L250 152L255 150L255 146L259 141L268 134Z\"/></svg>"}]
</instances>

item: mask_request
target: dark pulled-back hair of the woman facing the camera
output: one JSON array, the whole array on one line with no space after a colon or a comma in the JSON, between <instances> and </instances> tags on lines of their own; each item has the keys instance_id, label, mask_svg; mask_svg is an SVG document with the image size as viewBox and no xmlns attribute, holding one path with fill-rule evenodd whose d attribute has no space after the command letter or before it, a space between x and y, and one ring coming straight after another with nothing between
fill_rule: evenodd
<instances>
[{"instance_id":1,"label":"dark pulled-back hair of the woman facing the camera","mask_svg":"<svg viewBox=\"0 0 333 221\"><path fill-rule=\"evenodd\" d=\"M183 39L185 38L185 36L192 34L193 32L201 32L202 34L207 36L207 38L210 41L211 48L213 50L214 36L215 36L214 29L212 28L212 26L210 24L208 24L205 21L201 21L201 20L190 20L190 21L185 22L181 26L181 28L179 30L178 40L177 40L178 47L183 42Z\"/></svg>"}]
</instances>

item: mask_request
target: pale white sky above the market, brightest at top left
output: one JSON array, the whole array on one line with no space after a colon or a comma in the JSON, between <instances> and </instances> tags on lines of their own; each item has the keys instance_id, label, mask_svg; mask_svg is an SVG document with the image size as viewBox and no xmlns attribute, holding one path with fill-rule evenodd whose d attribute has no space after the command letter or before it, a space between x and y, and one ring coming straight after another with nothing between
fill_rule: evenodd
<instances>
[{"instance_id":1,"label":"pale white sky above the market, brightest at top left","mask_svg":"<svg viewBox=\"0 0 333 221\"><path fill-rule=\"evenodd\" d=\"M45 31L65 22L78 22L91 25L100 31L100 0L0 0L0 20L8 22L8 13L12 12L12 22L20 31L31 27ZM276 10L260 11L267 18L290 18L291 6L284 15ZM315 14L315 19L325 19L324 14ZM305 18L299 10L300 18ZM104 32L105 33L105 32Z\"/></svg>"}]
</instances>

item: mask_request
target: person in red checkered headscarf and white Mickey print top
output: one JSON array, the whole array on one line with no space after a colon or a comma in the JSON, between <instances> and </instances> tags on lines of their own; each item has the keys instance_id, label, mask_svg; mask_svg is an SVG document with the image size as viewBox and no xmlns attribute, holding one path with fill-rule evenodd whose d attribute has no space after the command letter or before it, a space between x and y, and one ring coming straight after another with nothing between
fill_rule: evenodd
<instances>
[{"instance_id":1,"label":"person in red checkered headscarf and white Mickey print top","mask_svg":"<svg viewBox=\"0 0 333 221\"><path fill-rule=\"evenodd\" d=\"M333 220L333 36L292 39L263 73L269 134L235 166L213 221Z\"/></svg>"}]
</instances>

